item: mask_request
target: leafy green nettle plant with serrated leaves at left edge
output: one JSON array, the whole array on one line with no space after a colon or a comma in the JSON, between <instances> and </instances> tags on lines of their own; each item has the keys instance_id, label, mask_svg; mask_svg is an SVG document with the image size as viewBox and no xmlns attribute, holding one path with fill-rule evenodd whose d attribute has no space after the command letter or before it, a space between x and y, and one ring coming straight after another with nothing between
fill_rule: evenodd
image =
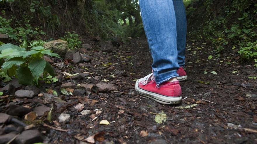
<instances>
[{"instance_id":1,"label":"leafy green nettle plant with serrated leaves at left edge","mask_svg":"<svg viewBox=\"0 0 257 144\"><path fill-rule=\"evenodd\" d=\"M55 76L51 65L42 56L49 55L60 58L58 54L52 53L50 49L42 46L32 47L29 51L13 44L0 46L0 60L5 62L1 65L2 71L8 76L15 76L19 83L24 85L38 84L38 80L44 73Z\"/></svg>"}]
</instances>

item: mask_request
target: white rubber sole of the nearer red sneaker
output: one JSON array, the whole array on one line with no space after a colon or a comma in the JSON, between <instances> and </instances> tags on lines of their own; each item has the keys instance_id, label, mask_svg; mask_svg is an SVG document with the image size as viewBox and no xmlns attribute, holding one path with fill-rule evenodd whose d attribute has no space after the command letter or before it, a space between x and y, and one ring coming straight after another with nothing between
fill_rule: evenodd
<instances>
[{"instance_id":1,"label":"white rubber sole of the nearer red sneaker","mask_svg":"<svg viewBox=\"0 0 257 144\"><path fill-rule=\"evenodd\" d=\"M136 92L140 95L143 95L145 97L148 97L150 99L153 99L156 102L159 102L161 104L180 104L182 102L182 96L180 97L167 97L164 95L159 95L157 93L152 93L143 89L140 89L138 87L138 80L135 84Z\"/></svg>"}]
</instances>

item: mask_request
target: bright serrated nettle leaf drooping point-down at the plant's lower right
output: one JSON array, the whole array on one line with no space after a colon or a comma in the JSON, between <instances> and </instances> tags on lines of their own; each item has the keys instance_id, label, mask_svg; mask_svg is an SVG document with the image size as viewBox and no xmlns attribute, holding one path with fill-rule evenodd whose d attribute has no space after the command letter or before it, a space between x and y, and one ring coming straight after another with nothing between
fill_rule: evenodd
<instances>
[{"instance_id":1,"label":"bright serrated nettle leaf drooping point-down at the plant's lower right","mask_svg":"<svg viewBox=\"0 0 257 144\"><path fill-rule=\"evenodd\" d=\"M46 61L41 58L34 58L29 63L30 72L32 73L33 77L35 77L36 79L40 77L45 67L46 67Z\"/></svg>"}]
</instances>

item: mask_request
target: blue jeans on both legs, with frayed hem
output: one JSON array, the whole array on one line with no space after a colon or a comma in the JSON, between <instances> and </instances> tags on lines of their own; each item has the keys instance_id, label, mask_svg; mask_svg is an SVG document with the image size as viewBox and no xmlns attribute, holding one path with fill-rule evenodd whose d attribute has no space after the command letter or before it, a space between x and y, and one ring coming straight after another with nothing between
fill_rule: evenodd
<instances>
[{"instance_id":1,"label":"blue jeans on both legs, with frayed hem","mask_svg":"<svg viewBox=\"0 0 257 144\"><path fill-rule=\"evenodd\" d=\"M186 15L183 0L139 0L157 85L178 77L185 66Z\"/></svg>"}]
</instances>

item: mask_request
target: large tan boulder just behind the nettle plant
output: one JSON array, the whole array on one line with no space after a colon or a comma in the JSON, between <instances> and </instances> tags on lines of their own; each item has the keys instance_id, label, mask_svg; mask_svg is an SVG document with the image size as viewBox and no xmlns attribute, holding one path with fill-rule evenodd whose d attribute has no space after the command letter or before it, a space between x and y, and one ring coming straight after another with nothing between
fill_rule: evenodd
<instances>
[{"instance_id":1,"label":"large tan boulder just behind the nettle plant","mask_svg":"<svg viewBox=\"0 0 257 144\"><path fill-rule=\"evenodd\" d=\"M54 53L64 57L68 51L67 41L65 40L53 40L46 42L43 47L51 49Z\"/></svg>"}]
</instances>

